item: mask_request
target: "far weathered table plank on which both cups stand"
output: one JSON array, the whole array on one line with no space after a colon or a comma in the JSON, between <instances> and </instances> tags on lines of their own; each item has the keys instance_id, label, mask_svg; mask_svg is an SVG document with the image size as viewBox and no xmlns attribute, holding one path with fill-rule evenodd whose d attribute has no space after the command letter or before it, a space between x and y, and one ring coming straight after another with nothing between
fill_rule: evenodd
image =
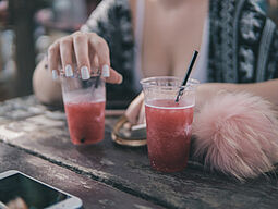
<instances>
[{"instance_id":1,"label":"far weathered table plank on which both cups stand","mask_svg":"<svg viewBox=\"0 0 278 209\"><path fill-rule=\"evenodd\" d=\"M21 106L15 104L20 102ZM1 111L7 106L20 107L22 112L19 109L9 109L9 113ZM29 113L28 109L33 112ZM21 113L19 119L14 116L16 111ZM152 170L146 148L124 148L111 142L110 131L116 121L112 118L106 120L104 142L78 147L70 142L64 114L46 111L36 104L33 97L2 104L0 119L3 120L0 122L2 142L166 208L278 206L276 177L239 183L220 174L208 173L193 162L180 173L165 174Z\"/></svg>"}]
</instances>

